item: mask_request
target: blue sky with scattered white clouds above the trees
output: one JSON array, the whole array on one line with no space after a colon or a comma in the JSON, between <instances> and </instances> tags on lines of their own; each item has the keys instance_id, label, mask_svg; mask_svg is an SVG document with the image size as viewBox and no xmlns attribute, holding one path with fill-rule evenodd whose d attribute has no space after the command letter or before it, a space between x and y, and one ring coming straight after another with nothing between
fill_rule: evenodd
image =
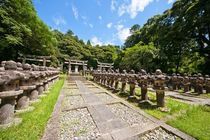
<instances>
[{"instance_id":1,"label":"blue sky with scattered white clouds above the trees","mask_svg":"<svg viewBox=\"0 0 210 140\"><path fill-rule=\"evenodd\" d=\"M71 29L93 45L122 45L129 28L170 8L175 0L33 0L39 17L51 28Z\"/></svg>"}]
</instances>

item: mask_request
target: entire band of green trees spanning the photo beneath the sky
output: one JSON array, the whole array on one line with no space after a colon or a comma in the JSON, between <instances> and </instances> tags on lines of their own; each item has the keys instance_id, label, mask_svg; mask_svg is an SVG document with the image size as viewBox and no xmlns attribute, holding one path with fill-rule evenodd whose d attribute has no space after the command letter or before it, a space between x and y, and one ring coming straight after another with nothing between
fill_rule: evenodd
<instances>
[{"instance_id":1,"label":"entire band of green trees spanning the photo beneath the sky","mask_svg":"<svg viewBox=\"0 0 210 140\"><path fill-rule=\"evenodd\" d=\"M53 64L65 59L115 62L115 68L156 68L172 73L210 73L210 1L177 0L172 8L130 28L123 49L93 46L72 30L52 30L37 15L32 0L0 1L0 61L19 54L49 55Z\"/></svg>"}]
</instances>

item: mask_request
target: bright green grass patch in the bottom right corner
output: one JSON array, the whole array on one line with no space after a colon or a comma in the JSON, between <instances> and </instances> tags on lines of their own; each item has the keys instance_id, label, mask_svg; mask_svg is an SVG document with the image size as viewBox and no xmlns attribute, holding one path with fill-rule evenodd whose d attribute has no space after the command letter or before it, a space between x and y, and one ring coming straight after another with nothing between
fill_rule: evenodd
<instances>
[{"instance_id":1,"label":"bright green grass patch in the bottom right corner","mask_svg":"<svg viewBox=\"0 0 210 140\"><path fill-rule=\"evenodd\" d=\"M193 106L185 114L170 120L167 123L195 137L209 140L210 138L210 108Z\"/></svg>"}]
</instances>

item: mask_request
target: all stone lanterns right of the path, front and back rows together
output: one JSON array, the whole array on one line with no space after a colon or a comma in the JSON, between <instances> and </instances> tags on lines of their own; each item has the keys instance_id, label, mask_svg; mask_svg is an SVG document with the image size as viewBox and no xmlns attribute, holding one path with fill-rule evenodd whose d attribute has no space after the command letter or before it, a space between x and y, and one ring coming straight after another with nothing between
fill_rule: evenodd
<instances>
[{"instance_id":1,"label":"all stone lanterns right of the path, front and back rows together","mask_svg":"<svg viewBox=\"0 0 210 140\"><path fill-rule=\"evenodd\" d=\"M160 78L161 77L161 78ZM147 74L145 70L141 70L138 74L135 74L134 70L127 73L123 70L119 73L119 70L108 70L108 71L94 71L94 81L118 91L119 82L121 82L121 93L125 92L126 84L130 85L129 99L135 98L135 87L138 85L141 87L141 100L148 100L147 88L152 86L157 93L157 104L158 106L164 106L164 90L165 87L170 90L178 91L183 88L183 92L190 92L194 89L195 93L202 94L204 90L206 93L210 93L210 77L206 75L203 77L201 74L195 74L189 76L184 74L166 75L160 70L157 70L154 74ZM115 86L113 86L115 83Z\"/></svg>"}]
</instances>

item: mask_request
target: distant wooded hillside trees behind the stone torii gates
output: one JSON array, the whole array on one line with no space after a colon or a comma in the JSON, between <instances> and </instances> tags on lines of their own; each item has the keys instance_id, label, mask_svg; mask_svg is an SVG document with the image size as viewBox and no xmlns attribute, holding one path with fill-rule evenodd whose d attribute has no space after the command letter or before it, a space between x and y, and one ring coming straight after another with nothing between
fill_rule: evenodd
<instances>
[{"instance_id":1,"label":"distant wooded hillside trees behind the stone torii gates","mask_svg":"<svg viewBox=\"0 0 210 140\"><path fill-rule=\"evenodd\" d=\"M117 59L120 52L119 47L113 45L92 46L90 41L85 44L72 31L63 34L55 30L54 34L58 41L61 60L88 60L88 65L96 68L97 60L112 63Z\"/></svg>"}]
</instances>

